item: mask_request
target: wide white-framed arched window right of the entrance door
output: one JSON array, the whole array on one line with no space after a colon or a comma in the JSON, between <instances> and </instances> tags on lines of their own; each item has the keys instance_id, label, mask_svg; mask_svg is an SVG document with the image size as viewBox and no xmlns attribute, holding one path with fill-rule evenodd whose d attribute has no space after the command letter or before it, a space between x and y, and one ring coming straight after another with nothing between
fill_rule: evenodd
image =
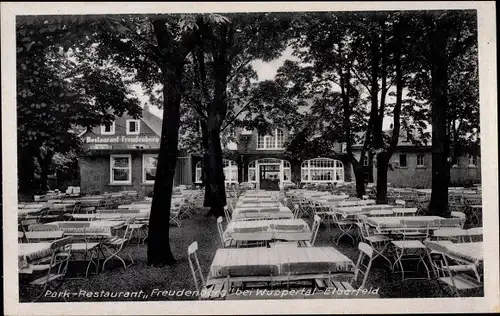
<instances>
[{"instance_id":1,"label":"wide white-framed arched window right of the entrance door","mask_svg":"<svg viewBox=\"0 0 500 316\"><path fill-rule=\"evenodd\" d=\"M301 181L305 183L333 183L344 181L344 164L330 158L314 158L301 165Z\"/></svg>"}]
</instances>

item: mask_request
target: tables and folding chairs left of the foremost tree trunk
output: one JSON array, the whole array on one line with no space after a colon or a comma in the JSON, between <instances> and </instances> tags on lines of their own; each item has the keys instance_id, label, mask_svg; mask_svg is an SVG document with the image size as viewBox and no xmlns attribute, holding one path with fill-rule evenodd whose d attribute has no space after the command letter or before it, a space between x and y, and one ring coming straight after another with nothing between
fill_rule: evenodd
<instances>
[{"instance_id":1,"label":"tables and folding chairs left of the foremost tree trunk","mask_svg":"<svg viewBox=\"0 0 500 316\"><path fill-rule=\"evenodd\" d=\"M173 226L180 227L185 217L192 216L201 195L199 190L175 190ZM129 268L135 259L127 248L147 241L151 199L139 200L137 192L60 194L57 199L37 200L19 203L18 209L20 291L33 301L54 283L71 279L69 272L89 278L116 269L113 262ZM61 266L61 258L64 269L57 268L55 276L53 270Z\"/></svg>"}]
</instances>

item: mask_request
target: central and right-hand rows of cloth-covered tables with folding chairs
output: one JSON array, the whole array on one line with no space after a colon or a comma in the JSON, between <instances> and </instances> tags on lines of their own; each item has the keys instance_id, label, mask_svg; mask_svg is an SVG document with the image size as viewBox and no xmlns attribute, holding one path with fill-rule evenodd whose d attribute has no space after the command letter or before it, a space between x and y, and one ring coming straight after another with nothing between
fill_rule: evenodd
<instances>
[{"instance_id":1,"label":"central and right-hand rows of cloth-covered tables with folding chairs","mask_svg":"<svg viewBox=\"0 0 500 316\"><path fill-rule=\"evenodd\" d=\"M220 248L208 274L200 270L197 241L189 246L196 290L202 293L201 299L234 299L235 293L243 290L255 294L258 289L307 288L315 293L353 289L363 257L369 262L364 266L362 285L369 279L370 269L382 268L399 275L401 282L424 279L430 283L443 280L445 275L444 280L452 287L448 295L462 295L459 290L464 287L481 289L482 243L474 238L481 240L482 228L477 227L480 215L470 212L468 202L472 194L478 193L455 192L451 198L456 200L460 195L462 203L456 205L456 212L465 216L425 215L429 196L417 190L392 190L391 203L386 205L376 205L369 198L352 198L347 186L343 192L238 192L228 199L226 219L217 220ZM331 235L328 247L315 245L320 226ZM436 240L442 247L440 251L432 247ZM346 243L358 248L357 261L336 249ZM383 260L375 260L378 257ZM447 267L437 265L437 257L453 263ZM457 270L460 265L469 269ZM463 285L467 276L472 281ZM262 295L253 298L262 299Z\"/></svg>"}]
</instances>

